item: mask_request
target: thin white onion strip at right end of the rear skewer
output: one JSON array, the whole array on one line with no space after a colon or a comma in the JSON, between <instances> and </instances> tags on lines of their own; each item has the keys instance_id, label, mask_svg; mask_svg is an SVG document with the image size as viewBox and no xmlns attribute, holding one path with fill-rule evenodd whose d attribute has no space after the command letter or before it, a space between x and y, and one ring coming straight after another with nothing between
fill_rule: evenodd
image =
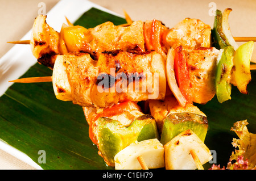
<instances>
[{"instance_id":1,"label":"thin white onion strip at right end of the rear skewer","mask_svg":"<svg viewBox=\"0 0 256 181\"><path fill-rule=\"evenodd\" d=\"M229 27L229 13L231 11L232 11L232 9L227 8L222 13L222 32L224 33L224 35L226 35L226 39L228 39L229 44L232 45L234 50L236 50L238 48L238 45L237 45L236 41L234 40L232 33L230 31L230 27Z\"/></svg>"}]
</instances>

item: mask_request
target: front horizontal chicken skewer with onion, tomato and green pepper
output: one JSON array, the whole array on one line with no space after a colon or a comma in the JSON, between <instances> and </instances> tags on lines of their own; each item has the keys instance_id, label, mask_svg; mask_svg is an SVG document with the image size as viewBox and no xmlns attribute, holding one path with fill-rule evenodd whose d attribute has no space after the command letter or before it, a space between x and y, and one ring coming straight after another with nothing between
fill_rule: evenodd
<instances>
[{"instance_id":1,"label":"front horizontal chicken skewer with onion, tomato and green pepper","mask_svg":"<svg viewBox=\"0 0 256 181\"><path fill-rule=\"evenodd\" d=\"M245 45L248 45L249 43L246 43ZM236 54L236 57L243 55L243 53L240 54L239 51L240 49L237 50L238 53ZM112 99L108 99L110 102L105 103L104 100L100 99L101 96L95 94L94 97L93 94L89 94L89 92L93 89L93 85L96 85L97 79L98 81L103 81L104 75L100 75L100 73L105 73L105 77L108 77L110 76L111 68L116 71L114 74L112 74L114 76L109 77L110 83L111 79L114 80L114 82L112 81L113 85L115 85L116 74L118 74L119 79L121 79L120 75L125 75L127 78L127 73L137 73L138 75L140 74L140 76L143 74L146 75L145 73L158 73L159 89L155 87L155 92L159 91L159 99L163 100L166 91L168 91L171 92L171 94L174 94L181 106L185 106L186 104L190 104L192 102L205 104L211 100L216 93L218 99L220 100L226 99L227 96L230 98L230 94L222 93L225 92L225 87L223 88L222 85L226 85L226 82L230 80L231 70L227 71L228 69L226 69L225 74L222 74L222 76L220 76L220 74L216 74L216 72L218 73L218 71L222 70L221 66L217 65L217 62L227 60L227 56L225 56L226 52L222 52L223 56L220 54L221 52L221 50L217 50L216 48L197 48L187 51L183 50L181 47L177 47L176 49L170 49L166 62L164 62L164 58L159 53L154 51L144 53L125 52L122 50L103 52L101 53L98 61L94 61L88 53L69 53L63 56L57 56L56 66L53 69L53 76L50 77L50 81L52 79L57 99L72 100L74 103L80 104L81 106L92 106L94 104L94 106L98 105L98 107L105 107L122 100L147 100L149 92L144 92L144 98L142 99L135 99L134 93L123 94L128 96L127 98L130 96L131 99L127 99L122 95L118 94L117 96L117 94L114 94L114 92L109 92L109 94L105 94L105 96L111 95L110 97L112 97ZM229 56L228 60L233 60L233 56ZM131 65L130 62L134 62L134 65L136 64L136 66L129 66ZM143 62L146 62L146 64L150 67L147 69L147 66L144 66L146 64L142 64ZM73 67L73 69L71 69L71 67ZM87 71L87 69L90 71ZM236 69L236 71L238 70L239 69ZM79 74L77 75L77 73ZM82 74L82 76L80 76L80 74ZM237 74L240 74L240 76L233 78L232 81L237 81L240 86L242 86L242 84L243 86L246 86L248 82L239 82L239 80L243 77L247 78L247 76L250 78L250 74L245 74L245 71L241 72L241 70ZM67 77L68 75L70 78ZM77 77L75 78L75 76ZM30 78L18 79L14 82L26 82L28 79ZM87 80L87 83L90 84L90 88L86 86L85 80ZM43 78L43 81L45 81L45 78ZM166 84L168 86L166 86ZM228 85L230 85L230 83L228 83ZM87 87L88 90L83 90L80 87ZM147 84L146 87L150 87L150 84ZM95 86L94 88L98 87ZM85 93L82 91L87 91L89 94L88 98L93 99L93 102L95 103L93 103L92 100L90 100L90 103L88 104L77 102L77 100L81 101L85 99L85 97L83 97ZM120 90L120 92L124 91L126 90ZM100 106L100 104L102 104L102 106Z\"/></svg>"}]
</instances>

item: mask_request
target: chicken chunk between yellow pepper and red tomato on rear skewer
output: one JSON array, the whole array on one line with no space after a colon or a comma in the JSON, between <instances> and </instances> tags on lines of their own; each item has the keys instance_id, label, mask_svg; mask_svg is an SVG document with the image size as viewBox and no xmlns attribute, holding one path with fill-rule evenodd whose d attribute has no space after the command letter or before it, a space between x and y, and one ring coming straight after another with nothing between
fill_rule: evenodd
<instances>
[{"instance_id":1,"label":"chicken chunk between yellow pepper and red tomato on rear skewer","mask_svg":"<svg viewBox=\"0 0 256 181\"><path fill-rule=\"evenodd\" d=\"M89 47L84 49L99 57L101 52L116 49L137 50L144 52L143 22L133 22L130 26L114 26L112 22L106 22L89 28Z\"/></svg>"}]
</instances>

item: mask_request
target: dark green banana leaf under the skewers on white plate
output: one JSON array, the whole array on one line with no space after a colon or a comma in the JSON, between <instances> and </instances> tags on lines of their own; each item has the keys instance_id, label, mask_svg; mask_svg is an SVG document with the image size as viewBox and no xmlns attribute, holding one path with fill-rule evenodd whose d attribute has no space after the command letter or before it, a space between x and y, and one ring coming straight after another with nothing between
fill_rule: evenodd
<instances>
[{"instance_id":1,"label":"dark green banana leaf under the skewers on white plate","mask_svg":"<svg viewBox=\"0 0 256 181\"><path fill-rule=\"evenodd\" d=\"M74 24L90 28L108 20L116 25L126 23L123 18L92 8ZM234 150L231 142L236 134L230 131L234 122L247 119L249 131L256 132L256 72L251 73L249 95L233 87L232 100L220 104L215 97L205 105L197 105L208 117L205 144L216 150L217 165L226 166ZM35 64L20 78L51 75L50 69ZM14 83L1 96L0 139L27 154L42 169L114 169L105 164L89 139L82 108L57 100L51 82ZM39 150L45 151L46 163L39 162Z\"/></svg>"}]
</instances>

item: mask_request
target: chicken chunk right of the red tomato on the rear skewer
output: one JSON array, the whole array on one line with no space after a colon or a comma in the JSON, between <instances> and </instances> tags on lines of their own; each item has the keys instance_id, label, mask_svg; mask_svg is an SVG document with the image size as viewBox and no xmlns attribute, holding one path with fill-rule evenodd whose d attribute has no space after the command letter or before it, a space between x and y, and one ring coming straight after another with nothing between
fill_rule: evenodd
<instances>
[{"instance_id":1,"label":"chicken chunk right of the red tomato on the rear skewer","mask_svg":"<svg viewBox=\"0 0 256 181\"><path fill-rule=\"evenodd\" d=\"M165 48L180 45L187 50L198 47L210 47L211 28L199 19L185 18L166 34Z\"/></svg>"}]
</instances>

